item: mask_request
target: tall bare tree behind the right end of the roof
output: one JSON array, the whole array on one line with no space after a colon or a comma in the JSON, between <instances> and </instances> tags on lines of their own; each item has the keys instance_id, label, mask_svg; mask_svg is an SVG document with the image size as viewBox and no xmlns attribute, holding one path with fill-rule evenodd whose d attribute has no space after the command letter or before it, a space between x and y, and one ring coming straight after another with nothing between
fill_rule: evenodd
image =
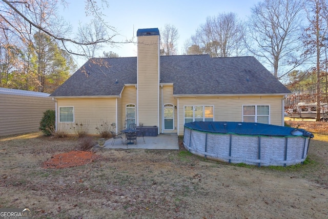
<instances>
[{"instance_id":1,"label":"tall bare tree behind the right end of the roof","mask_svg":"<svg viewBox=\"0 0 328 219\"><path fill-rule=\"evenodd\" d=\"M253 45L248 49L273 67L275 77L288 74L302 63L299 51L302 2L299 0L264 0L252 9L248 33ZM282 75L281 67L289 66Z\"/></svg>"}]
</instances>

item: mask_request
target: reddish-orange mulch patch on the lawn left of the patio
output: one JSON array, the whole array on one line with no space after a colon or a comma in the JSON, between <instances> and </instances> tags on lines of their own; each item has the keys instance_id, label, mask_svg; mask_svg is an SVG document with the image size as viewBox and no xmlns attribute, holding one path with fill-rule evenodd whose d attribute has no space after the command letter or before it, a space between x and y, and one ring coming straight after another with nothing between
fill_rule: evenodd
<instances>
[{"instance_id":1,"label":"reddish-orange mulch patch on the lawn left of the patio","mask_svg":"<svg viewBox=\"0 0 328 219\"><path fill-rule=\"evenodd\" d=\"M94 162L100 158L91 151L70 151L52 156L42 165L44 169L61 169L67 167L76 167Z\"/></svg>"}]
</instances>

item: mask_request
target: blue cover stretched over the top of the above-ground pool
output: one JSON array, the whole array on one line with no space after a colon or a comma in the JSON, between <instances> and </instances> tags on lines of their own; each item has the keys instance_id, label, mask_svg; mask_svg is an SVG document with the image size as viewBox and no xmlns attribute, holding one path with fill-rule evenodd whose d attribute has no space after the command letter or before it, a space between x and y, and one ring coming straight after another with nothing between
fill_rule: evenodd
<instances>
[{"instance_id":1,"label":"blue cover stretched over the top of the above-ground pool","mask_svg":"<svg viewBox=\"0 0 328 219\"><path fill-rule=\"evenodd\" d=\"M262 123L241 122L192 122L186 123L186 128L222 134L264 135L264 136L304 136L314 137L311 132L285 126L267 125Z\"/></svg>"}]
</instances>

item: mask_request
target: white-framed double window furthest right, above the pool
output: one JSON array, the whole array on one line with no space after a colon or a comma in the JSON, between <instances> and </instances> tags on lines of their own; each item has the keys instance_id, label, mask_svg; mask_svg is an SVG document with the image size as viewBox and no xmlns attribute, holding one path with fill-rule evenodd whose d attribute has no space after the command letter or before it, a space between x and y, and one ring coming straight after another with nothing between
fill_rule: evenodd
<instances>
[{"instance_id":1,"label":"white-framed double window furthest right, above the pool","mask_svg":"<svg viewBox=\"0 0 328 219\"><path fill-rule=\"evenodd\" d=\"M268 105L244 105L242 122L270 124L270 107Z\"/></svg>"}]
</instances>

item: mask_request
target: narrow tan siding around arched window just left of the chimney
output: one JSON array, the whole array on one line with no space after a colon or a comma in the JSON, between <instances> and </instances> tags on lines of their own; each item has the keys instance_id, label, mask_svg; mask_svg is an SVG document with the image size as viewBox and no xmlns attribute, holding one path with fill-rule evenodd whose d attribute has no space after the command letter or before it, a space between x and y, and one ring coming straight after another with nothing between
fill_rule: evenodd
<instances>
[{"instance_id":1,"label":"narrow tan siding around arched window just left of the chimney","mask_svg":"<svg viewBox=\"0 0 328 219\"><path fill-rule=\"evenodd\" d=\"M137 106L137 89L135 86L126 86L122 92L122 102L121 102L121 128L124 129L124 124L127 116L126 106L128 104L134 104ZM136 112L137 113L137 112Z\"/></svg>"}]
</instances>

